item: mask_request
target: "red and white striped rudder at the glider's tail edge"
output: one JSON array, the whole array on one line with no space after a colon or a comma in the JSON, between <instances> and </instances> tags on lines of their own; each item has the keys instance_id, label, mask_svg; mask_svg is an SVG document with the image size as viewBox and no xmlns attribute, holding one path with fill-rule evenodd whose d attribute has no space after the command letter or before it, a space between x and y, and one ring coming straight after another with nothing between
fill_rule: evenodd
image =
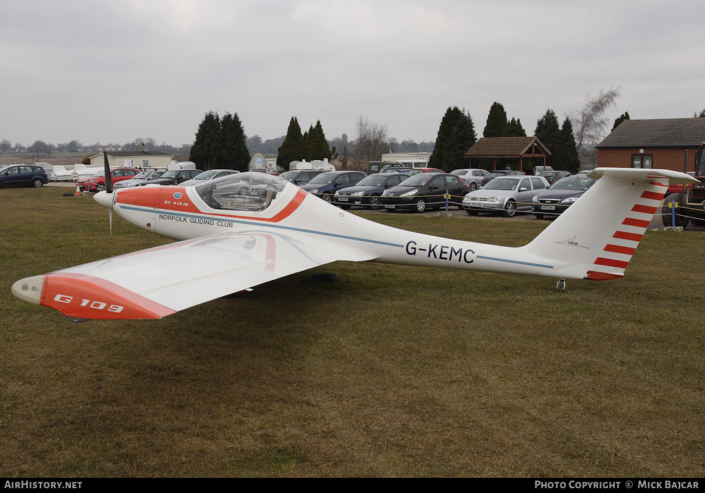
<instances>
[{"instance_id":1,"label":"red and white striped rudder at the glider's tail edge","mask_svg":"<svg viewBox=\"0 0 705 493\"><path fill-rule=\"evenodd\" d=\"M585 279L608 280L623 277L627 264L632 260L632 255L667 191L668 179L661 175L651 177L649 186L596 258Z\"/></svg>"}]
</instances>

